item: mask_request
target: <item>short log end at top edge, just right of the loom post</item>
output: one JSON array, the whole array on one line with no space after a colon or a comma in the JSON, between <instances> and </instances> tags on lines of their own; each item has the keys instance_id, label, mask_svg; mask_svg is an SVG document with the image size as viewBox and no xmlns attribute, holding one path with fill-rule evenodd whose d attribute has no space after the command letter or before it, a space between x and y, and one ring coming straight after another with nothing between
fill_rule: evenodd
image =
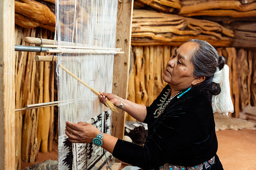
<instances>
[{"instance_id":1,"label":"short log end at top edge, just right of the loom post","mask_svg":"<svg viewBox=\"0 0 256 170\"><path fill-rule=\"evenodd\" d=\"M181 9L179 0L137 0L157 10L167 13L178 13Z\"/></svg>"}]
</instances>

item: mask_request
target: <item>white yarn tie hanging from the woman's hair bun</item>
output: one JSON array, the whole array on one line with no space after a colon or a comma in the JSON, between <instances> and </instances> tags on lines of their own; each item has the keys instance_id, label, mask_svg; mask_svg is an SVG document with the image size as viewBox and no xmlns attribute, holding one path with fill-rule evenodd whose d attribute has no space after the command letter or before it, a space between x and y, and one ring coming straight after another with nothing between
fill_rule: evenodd
<instances>
[{"instance_id":1,"label":"white yarn tie hanging from the woman's hair bun","mask_svg":"<svg viewBox=\"0 0 256 170\"><path fill-rule=\"evenodd\" d=\"M219 83L221 86L221 92L218 95L212 95L212 110L214 113L222 113L229 115L229 112L233 112L233 103L230 95L229 87L229 67L225 64L224 67L220 70L217 68L217 71L214 74L212 82Z\"/></svg>"}]
</instances>

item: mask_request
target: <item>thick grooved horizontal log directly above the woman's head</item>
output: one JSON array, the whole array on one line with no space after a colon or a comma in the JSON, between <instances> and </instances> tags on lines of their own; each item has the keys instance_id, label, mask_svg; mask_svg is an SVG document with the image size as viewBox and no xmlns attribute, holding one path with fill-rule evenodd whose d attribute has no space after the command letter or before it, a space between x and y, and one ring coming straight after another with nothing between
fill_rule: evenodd
<instances>
[{"instance_id":1,"label":"thick grooved horizontal log directly above the woman's head","mask_svg":"<svg viewBox=\"0 0 256 170\"><path fill-rule=\"evenodd\" d=\"M181 45L197 38L214 46L230 46L233 31L217 22L148 10L134 10L132 45Z\"/></svg>"}]
</instances>

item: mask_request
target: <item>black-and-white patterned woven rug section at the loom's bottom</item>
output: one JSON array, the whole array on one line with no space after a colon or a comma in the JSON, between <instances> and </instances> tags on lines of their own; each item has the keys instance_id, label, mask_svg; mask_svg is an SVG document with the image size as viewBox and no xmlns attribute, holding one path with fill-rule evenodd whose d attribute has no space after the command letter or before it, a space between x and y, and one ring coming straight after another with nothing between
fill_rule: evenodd
<instances>
[{"instance_id":1,"label":"black-and-white patterned woven rug section at the loom's bottom","mask_svg":"<svg viewBox=\"0 0 256 170\"><path fill-rule=\"evenodd\" d=\"M111 134L111 111L105 111L88 120L101 132ZM71 143L66 135L58 138L58 169L100 169L111 154L92 143Z\"/></svg>"}]
</instances>

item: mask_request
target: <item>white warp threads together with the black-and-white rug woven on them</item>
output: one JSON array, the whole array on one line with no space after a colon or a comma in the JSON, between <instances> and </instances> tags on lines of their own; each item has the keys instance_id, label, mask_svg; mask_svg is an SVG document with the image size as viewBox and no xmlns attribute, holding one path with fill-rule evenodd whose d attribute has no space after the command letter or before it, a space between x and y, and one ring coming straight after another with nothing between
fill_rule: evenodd
<instances>
[{"instance_id":1,"label":"white warp threads together with the black-and-white rug woven on them","mask_svg":"<svg viewBox=\"0 0 256 170\"><path fill-rule=\"evenodd\" d=\"M97 91L112 92L117 0L56 0L58 77L58 168L98 169L110 156L92 143L71 143L66 121L89 122L111 133L111 114L98 95L67 70ZM106 111L104 111L106 110Z\"/></svg>"}]
</instances>

